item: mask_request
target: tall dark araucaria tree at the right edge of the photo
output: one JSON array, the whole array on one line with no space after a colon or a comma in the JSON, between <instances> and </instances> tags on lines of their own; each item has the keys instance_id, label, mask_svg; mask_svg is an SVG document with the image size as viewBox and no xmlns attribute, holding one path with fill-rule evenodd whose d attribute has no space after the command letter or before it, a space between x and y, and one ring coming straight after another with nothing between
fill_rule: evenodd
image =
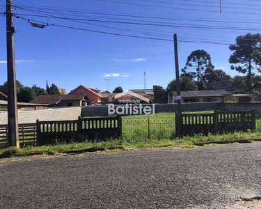
<instances>
[{"instance_id":1,"label":"tall dark araucaria tree at the right edge of the photo","mask_svg":"<svg viewBox=\"0 0 261 209\"><path fill-rule=\"evenodd\" d=\"M231 65L231 70L237 70L247 74L247 90L252 92L252 76L254 65L261 64L261 35L260 33L247 33L245 36L237 36L236 44L230 45L229 49L233 51L229 63L239 64Z\"/></svg>"}]
</instances>

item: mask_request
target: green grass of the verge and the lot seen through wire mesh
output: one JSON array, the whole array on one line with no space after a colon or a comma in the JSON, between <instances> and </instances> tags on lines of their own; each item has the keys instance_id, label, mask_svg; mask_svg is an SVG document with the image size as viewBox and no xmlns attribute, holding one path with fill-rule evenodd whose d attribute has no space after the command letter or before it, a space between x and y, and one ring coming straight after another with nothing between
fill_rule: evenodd
<instances>
[{"instance_id":1,"label":"green grass of the verge and the lot seen through wire mesh","mask_svg":"<svg viewBox=\"0 0 261 209\"><path fill-rule=\"evenodd\" d=\"M213 111L203 111L196 113L209 114ZM190 114L191 112L188 112ZM195 112L193 112L195 113ZM238 139L252 139L261 137L261 118L257 118L256 132L232 132L230 134L209 134L204 136L197 134L193 137L175 137L175 114L161 113L148 116L124 116L122 117L122 139L112 139L109 141L81 142L70 144L55 144L52 146L23 147L19 150L14 148L0 149L1 157L22 157L33 154L61 155L72 150L86 148L109 148L122 146L126 150L132 148L152 148L158 146L181 146L183 148L193 148L197 143L205 141L231 141ZM148 132L150 128L150 132ZM149 139L150 137L150 139Z\"/></svg>"}]
</instances>

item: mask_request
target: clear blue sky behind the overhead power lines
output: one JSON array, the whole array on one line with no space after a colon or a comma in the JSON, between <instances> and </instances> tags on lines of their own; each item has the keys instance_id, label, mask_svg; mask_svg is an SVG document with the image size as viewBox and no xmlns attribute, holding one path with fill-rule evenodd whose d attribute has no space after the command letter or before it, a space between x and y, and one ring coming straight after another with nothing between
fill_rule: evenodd
<instances>
[{"instance_id":1,"label":"clear blue sky behind the overhead power lines","mask_svg":"<svg viewBox=\"0 0 261 209\"><path fill-rule=\"evenodd\" d=\"M115 3L115 1L123 3ZM258 29L260 29L260 23L255 24L254 22L260 21L261 1L223 0L223 13L219 13L219 0L213 0L212 3L203 2L203 0L164 0L165 3L162 3L163 1L161 1L161 3L155 1L79 0L76 3L76 1L72 0L13 0L15 6L20 6L19 9L14 10L15 14L20 14L20 17L29 18L31 22L37 20L49 22L49 24L51 24L50 26L45 27L45 29L38 29L31 26L29 22L14 18L14 24L17 31L17 33L15 33L17 80L22 82L25 86L33 86L33 84L36 84L41 87L45 87L46 81L48 80L49 84L54 83L59 88L65 88L66 91L69 92L80 84L106 91L106 79L110 79L109 91L113 91L116 86L122 86L125 91L132 88L143 88L144 71L147 74L147 88L152 88L153 85L166 87L168 82L175 79L173 42L171 41L113 36L90 31L67 29L52 26L52 24L153 38L162 38L162 34L164 34L164 38L169 40L173 38L173 33L177 33L179 40L199 41L197 43L179 42L180 69L184 67L187 56L189 56L193 50L205 49L212 56L212 63L215 65L216 69L223 69L232 76L237 75L237 72L230 70L228 59L232 52L228 49L228 45L213 45L200 42L207 41L228 44L234 43L237 36L245 35L247 32L260 32L258 31ZM136 3L139 5L126 3ZM141 4L146 6L141 6ZM0 1L0 5L3 6L3 1ZM161 24L189 24L192 26L205 25L228 28L238 27L241 31L236 31L235 29L205 30L180 27L112 24L104 22L80 23L70 20L54 19L51 17L26 16L42 14L22 10L25 6L79 10L82 13L79 13L78 15L74 14L74 17L89 18L92 20L95 18L109 21L123 21L122 19L126 19L125 21L127 22L141 22L141 20L143 20L161 22ZM207 10L212 10L212 12ZM1 8L0 12L3 11L4 9ZM150 17L187 18L190 20L111 17L108 15L91 15L84 13L86 11L117 15L127 14ZM49 12L49 15L57 16L57 14L54 14L56 11L52 10ZM61 17L61 14L58 16ZM205 22L206 20L223 22ZM236 23L230 23L228 21L235 21ZM246 21L251 23L244 23ZM97 24L99 25L97 26ZM1 16L0 84L5 82L7 77L5 62L6 32L4 25L5 17ZM104 26L116 27L117 29L108 29ZM119 29L135 30L136 32L120 31ZM252 29L257 31L253 31ZM137 31L139 33L137 33ZM150 36L141 33L153 33L153 35ZM159 37L159 33L161 37Z\"/></svg>"}]
</instances>

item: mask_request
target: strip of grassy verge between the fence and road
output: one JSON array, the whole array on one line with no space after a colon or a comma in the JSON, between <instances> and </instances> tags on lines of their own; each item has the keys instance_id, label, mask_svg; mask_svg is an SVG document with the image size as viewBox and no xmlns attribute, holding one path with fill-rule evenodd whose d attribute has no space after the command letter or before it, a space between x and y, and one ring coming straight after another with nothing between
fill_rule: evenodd
<instances>
[{"instance_id":1,"label":"strip of grassy verge between the fence and road","mask_svg":"<svg viewBox=\"0 0 261 209\"><path fill-rule=\"evenodd\" d=\"M182 146L184 148L195 147L195 144L205 141L230 141L239 139L251 139L261 137L260 132L234 132L230 134L209 136L195 135L194 137L183 137L182 139L116 139L103 142L81 142L72 144L56 144L53 146L25 147L20 149L3 148L0 149L0 158L23 157L29 155L61 155L74 150L88 148L111 148L122 146L126 150L132 148L153 148L159 146Z\"/></svg>"}]
</instances>

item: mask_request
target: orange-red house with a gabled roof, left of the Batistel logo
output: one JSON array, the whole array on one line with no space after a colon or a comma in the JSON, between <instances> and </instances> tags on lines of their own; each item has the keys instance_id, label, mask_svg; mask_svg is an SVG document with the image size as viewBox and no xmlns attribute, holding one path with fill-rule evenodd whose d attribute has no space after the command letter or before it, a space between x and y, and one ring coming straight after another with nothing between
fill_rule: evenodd
<instances>
[{"instance_id":1,"label":"orange-red house with a gabled roof, left of the Batistel logo","mask_svg":"<svg viewBox=\"0 0 261 209\"><path fill-rule=\"evenodd\" d=\"M86 95L88 101L94 103L101 103L103 98L99 90L82 85L74 88L68 95Z\"/></svg>"}]
</instances>

